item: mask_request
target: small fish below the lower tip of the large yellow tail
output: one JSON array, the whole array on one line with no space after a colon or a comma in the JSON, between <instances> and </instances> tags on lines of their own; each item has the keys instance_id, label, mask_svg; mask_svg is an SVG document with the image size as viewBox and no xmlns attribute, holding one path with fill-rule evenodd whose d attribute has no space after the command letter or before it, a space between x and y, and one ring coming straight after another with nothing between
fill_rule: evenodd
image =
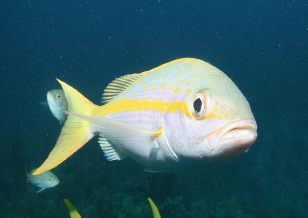
<instances>
[{"instance_id":1,"label":"small fish below the lower tip of the large yellow tail","mask_svg":"<svg viewBox=\"0 0 308 218\"><path fill-rule=\"evenodd\" d=\"M36 170L32 169L30 173L27 172L27 182L30 182L32 185L40 188L36 191L36 193L43 191L46 188L52 188L60 183L59 179L51 172L46 171L39 175L32 175L32 173Z\"/></svg>"}]
</instances>

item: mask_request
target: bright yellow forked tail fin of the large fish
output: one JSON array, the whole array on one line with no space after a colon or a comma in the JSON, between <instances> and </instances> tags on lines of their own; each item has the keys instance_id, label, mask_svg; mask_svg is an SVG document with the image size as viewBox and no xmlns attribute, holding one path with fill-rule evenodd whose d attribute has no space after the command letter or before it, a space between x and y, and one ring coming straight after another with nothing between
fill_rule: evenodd
<instances>
[{"instance_id":1,"label":"bright yellow forked tail fin of the large fish","mask_svg":"<svg viewBox=\"0 0 308 218\"><path fill-rule=\"evenodd\" d=\"M68 102L69 112L89 116L95 107L99 107L65 82L59 79L57 81L62 85ZM48 158L32 174L38 175L61 164L92 137L93 133L90 131L90 123L88 121L68 115L61 134Z\"/></svg>"}]
</instances>

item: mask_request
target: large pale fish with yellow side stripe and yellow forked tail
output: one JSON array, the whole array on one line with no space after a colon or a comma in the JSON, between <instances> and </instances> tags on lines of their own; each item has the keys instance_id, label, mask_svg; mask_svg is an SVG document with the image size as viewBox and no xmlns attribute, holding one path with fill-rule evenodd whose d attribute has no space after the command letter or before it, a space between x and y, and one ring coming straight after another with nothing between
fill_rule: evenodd
<instances>
[{"instance_id":1,"label":"large pale fish with yellow side stripe and yellow forked tail","mask_svg":"<svg viewBox=\"0 0 308 218\"><path fill-rule=\"evenodd\" d=\"M50 170L94 136L109 161L131 158L147 171L194 173L246 151L257 138L251 108L222 71L182 58L113 80L98 106L58 80L68 119L33 173Z\"/></svg>"}]
</instances>

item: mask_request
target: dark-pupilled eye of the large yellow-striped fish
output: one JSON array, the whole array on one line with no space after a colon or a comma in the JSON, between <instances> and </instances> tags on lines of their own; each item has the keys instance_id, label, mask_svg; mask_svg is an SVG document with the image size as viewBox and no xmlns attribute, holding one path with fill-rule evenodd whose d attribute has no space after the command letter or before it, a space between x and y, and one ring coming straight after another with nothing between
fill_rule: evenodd
<instances>
[{"instance_id":1,"label":"dark-pupilled eye of the large yellow-striped fish","mask_svg":"<svg viewBox=\"0 0 308 218\"><path fill-rule=\"evenodd\" d=\"M209 102L208 90L201 90L192 98L190 111L196 119L202 119Z\"/></svg>"}]
</instances>

